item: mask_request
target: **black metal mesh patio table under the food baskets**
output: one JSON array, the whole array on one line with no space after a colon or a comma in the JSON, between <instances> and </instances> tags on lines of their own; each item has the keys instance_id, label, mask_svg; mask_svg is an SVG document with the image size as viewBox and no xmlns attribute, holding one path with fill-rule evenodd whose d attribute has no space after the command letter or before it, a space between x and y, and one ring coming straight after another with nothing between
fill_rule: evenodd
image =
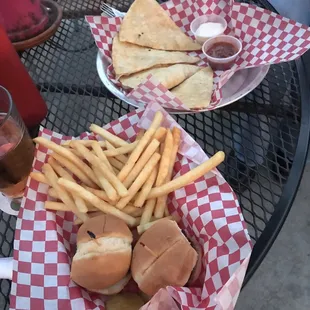
<instances>
[{"instance_id":1,"label":"black metal mesh patio table under the food baskets","mask_svg":"<svg viewBox=\"0 0 310 310\"><path fill-rule=\"evenodd\" d=\"M132 1L109 0L125 11ZM90 123L105 124L133 107L102 85L86 14L100 14L101 0L59 0L61 26L49 41L22 55L49 108L42 125L78 135ZM255 1L272 10L264 0ZM271 66L264 81L240 101L214 112L175 115L208 153L224 150L220 170L235 189L254 249L245 283L257 269L290 210L306 162L309 93L302 60ZM11 256L15 218L0 212L2 256ZM8 307L10 282L0 281L0 306Z\"/></svg>"}]
</instances>

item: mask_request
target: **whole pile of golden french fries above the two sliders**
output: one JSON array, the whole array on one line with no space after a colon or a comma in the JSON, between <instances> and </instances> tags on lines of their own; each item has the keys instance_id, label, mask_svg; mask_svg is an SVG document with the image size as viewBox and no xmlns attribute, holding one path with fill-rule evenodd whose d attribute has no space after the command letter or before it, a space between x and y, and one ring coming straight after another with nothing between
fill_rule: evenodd
<instances>
[{"instance_id":1,"label":"whole pile of golden french fries above the two sliders","mask_svg":"<svg viewBox=\"0 0 310 310\"><path fill-rule=\"evenodd\" d=\"M31 177L50 186L46 210L72 211L75 224L103 213L124 220L141 234L156 220L172 218L167 196L215 168L224 160L218 152L193 170L172 179L181 131L161 127L157 112L151 126L132 143L92 124L90 130L103 141L71 140L58 145L43 137L38 143L52 151L42 172ZM61 201L61 202L57 202Z\"/></svg>"}]
</instances>

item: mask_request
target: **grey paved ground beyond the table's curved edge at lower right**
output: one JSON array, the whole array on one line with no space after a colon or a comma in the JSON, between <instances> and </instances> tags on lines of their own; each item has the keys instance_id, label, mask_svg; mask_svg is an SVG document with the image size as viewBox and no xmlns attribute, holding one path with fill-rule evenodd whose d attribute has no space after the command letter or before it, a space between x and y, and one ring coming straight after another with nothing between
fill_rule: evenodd
<instances>
[{"instance_id":1,"label":"grey paved ground beyond the table's curved edge at lower right","mask_svg":"<svg viewBox=\"0 0 310 310\"><path fill-rule=\"evenodd\" d=\"M236 310L310 309L310 164L273 247L241 292Z\"/></svg>"}]
</instances>

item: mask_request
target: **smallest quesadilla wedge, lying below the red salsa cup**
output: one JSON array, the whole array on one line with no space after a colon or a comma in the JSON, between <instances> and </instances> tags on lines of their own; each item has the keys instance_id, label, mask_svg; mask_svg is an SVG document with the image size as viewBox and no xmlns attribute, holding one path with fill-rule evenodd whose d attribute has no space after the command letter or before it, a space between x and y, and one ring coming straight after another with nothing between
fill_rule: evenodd
<instances>
[{"instance_id":1,"label":"smallest quesadilla wedge, lying below the red salsa cup","mask_svg":"<svg viewBox=\"0 0 310 310\"><path fill-rule=\"evenodd\" d=\"M211 102L213 89L213 71L203 68L171 92L190 109L206 108Z\"/></svg>"}]
</instances>

